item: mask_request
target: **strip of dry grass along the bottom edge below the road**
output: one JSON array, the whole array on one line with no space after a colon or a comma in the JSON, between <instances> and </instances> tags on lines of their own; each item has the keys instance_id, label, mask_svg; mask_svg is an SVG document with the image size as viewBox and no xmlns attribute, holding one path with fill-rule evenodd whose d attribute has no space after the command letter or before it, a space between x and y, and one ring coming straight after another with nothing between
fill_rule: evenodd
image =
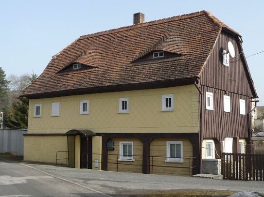
<instances>
[{"instance_id":1,"label":"strip of dry grass along the bottom edge below the road","mask_svg":"<svg viewBox=\"0 0 264 197\"><path fill-rule=\"evenodd\" d=\"M169 192L159 191L139 197L229 197L234 193L227 190L177 190Z\"/></svg>"}]
</instances>

